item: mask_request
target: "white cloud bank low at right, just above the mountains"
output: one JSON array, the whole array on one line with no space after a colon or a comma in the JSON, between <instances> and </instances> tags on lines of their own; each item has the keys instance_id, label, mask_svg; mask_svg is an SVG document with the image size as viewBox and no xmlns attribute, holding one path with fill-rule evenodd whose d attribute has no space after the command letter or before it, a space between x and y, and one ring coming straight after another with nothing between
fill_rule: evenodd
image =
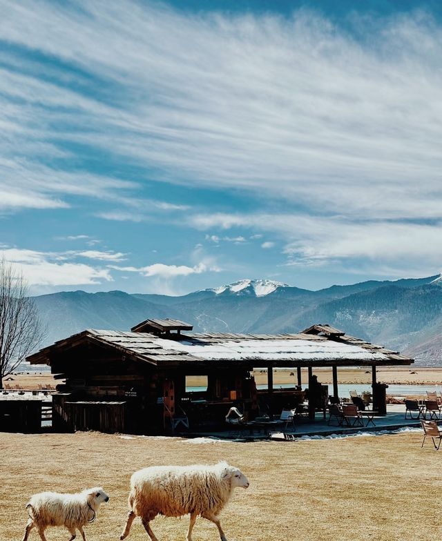
<instances>
[{"instance_id":1,"label":"white cloud bank low at right, just above the mountains","mask_svg":"<svg viewBox=\"0 0 442 541\"><path fill-rule=\"evenodd\" d=\"M189 224L199 229L232 227L260 229L285 239L288 264L320 266L343 264L345 260L365 267L367 274L430 275L439 272L442 261L442 220L431 223L392 220L354 221L343 216L305 214L242 214L189 216ZM264 246L266 244L266 246ZM273 243L274 244L274 243ZM270 247L263 243L262 248ZM365 264L361 261L367 259ZM405 268L404 262L407 262ZM402 268L401 272L398 269ZM340 271L354 272L343 265Z\"/></svg>"}]
</instances>

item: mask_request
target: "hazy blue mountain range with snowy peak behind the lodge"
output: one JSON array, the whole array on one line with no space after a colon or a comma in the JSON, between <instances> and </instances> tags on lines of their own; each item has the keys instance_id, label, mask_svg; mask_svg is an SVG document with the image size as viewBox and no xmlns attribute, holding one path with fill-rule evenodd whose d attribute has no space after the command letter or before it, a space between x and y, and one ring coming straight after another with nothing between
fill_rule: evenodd
<instances>
[{"instance_id":1,"label":"hazy blue mountain range with snowy peak behind the lodge","mask_svg":"<svg viewBox=\"0 0 442 541\"><path fill-rule=\"evenodd\" d=\"M69 291L35 297L45 344L85 328L127 331L148 318L181 319L194 331L294 333L328 323L436 366L442 355L442 275L369 280L319 291L244 279L188 295Z\"/></svg>"}]
</instances>

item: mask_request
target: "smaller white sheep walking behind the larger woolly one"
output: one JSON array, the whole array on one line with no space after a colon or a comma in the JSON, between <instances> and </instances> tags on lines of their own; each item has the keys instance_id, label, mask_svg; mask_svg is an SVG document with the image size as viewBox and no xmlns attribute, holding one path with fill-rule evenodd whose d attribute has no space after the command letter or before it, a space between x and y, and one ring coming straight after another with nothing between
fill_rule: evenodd
<instances>
[{"instance_id":1,"label":"smaller white sheep walking behind the larger woolly one","mask_svg":"<svg viewBox=\"0 0 442 541\"><path fill-rule=\"evenodd\" d=\"M64 526L73 541L79 530L83 541L86 541L83 527L95 520L96 513L102 502L108 502L109 497L101 486L87 489L76 494L60 494L58 492L41 492L31 496L26 509L29 520L26 524L23 541L28 540L29 532L37 527L40 538L46 541L44 531L48 526Z\"/></svg>"}]
</instances>

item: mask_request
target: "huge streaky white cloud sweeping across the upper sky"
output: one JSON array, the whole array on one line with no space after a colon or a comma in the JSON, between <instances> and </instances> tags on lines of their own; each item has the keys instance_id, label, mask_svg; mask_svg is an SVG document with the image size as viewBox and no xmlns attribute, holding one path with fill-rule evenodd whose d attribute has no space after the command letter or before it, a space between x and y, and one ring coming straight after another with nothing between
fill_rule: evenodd
<instances>
[{"instance_id":1,"label":"huge streaky white cloud sweeping across the upper sky","mask_svg":"<svg viewBox=\"0 0 442 541\"><path fill-rule=\"evenodd\" d=\"M86 72L73 89L55 64L2 53L9 206L137 189L39 163L39 148L62 161L68 142L155 168L157 180L354 217L441 215L442 39L430 17L367 18L371 39L358 43L306 10L287 20L153 2L1 3L3 39ZM103 82L92 87L90 74ZM119 90L112 101L106 83Z\"/></svg>"}]
</instances>

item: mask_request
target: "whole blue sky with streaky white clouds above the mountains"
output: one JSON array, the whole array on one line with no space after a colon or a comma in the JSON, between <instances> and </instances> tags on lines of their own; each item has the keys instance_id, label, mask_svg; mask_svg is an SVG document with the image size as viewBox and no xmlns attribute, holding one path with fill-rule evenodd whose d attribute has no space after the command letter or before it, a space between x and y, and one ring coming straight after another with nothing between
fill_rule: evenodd
<instances>
[{"instance_id":1,"label":"whole blue sky with streaky white clouds above the mountains","mask_svg":"<svg viewBox=\"0 0 442 541\"><path fill-rule=\"evenodd\" d=\"M0 0L0 255L35 294L442 257L442 3Z\"/></svg>"}]
</instances>

